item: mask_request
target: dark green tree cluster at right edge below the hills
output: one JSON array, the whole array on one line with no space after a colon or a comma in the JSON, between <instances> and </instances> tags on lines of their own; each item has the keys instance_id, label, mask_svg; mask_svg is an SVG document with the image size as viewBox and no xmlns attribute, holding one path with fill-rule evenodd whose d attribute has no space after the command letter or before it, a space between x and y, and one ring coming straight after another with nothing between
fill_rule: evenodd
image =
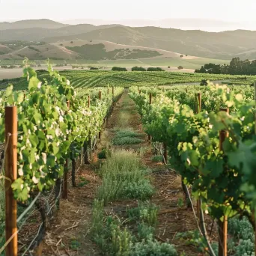
<instances>
[{"instance_id":1,"label":"dark green tree cluster at right edge below the hills","mask_svg":"<svg viewBox=\"0 0 256 256\"><path fill-rule=\"evenodd\" d=\"M256 75L256 60L242 61L240 58L232 58L230 64L205 64L195 73L230 74L230 75Z\"/></svg>"}]
</instances>

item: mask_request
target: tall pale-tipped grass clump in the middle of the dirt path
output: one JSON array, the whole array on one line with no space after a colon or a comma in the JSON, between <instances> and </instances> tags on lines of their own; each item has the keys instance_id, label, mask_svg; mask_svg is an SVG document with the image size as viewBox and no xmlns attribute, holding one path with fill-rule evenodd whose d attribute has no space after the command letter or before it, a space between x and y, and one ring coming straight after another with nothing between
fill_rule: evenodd
<instances>
[{"instance_id":1,"label":"tall pale-tipped grass clump in the middle of the dirt path","mask_svg":"<svg viewBox=\"0 0 256 256\"><path fill-rule=\"evenodd\" d=\"M103 183L98 188L97 198L105 204L123 198L145 200L153 195L153 186L145 176L148 170L141 167L137 154L119 150L112 153L100 168Z\"/></svg>"}]
</instances>

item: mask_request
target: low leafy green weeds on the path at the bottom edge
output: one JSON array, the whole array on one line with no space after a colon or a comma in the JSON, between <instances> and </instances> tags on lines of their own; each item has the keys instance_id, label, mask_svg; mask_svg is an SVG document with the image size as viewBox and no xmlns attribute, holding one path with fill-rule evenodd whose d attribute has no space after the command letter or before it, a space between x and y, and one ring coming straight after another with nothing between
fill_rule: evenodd
<instances>
[{"instance_id":1,"label":"low leafy green weeds on the path at the bottom edge","mask_svg":"<svg viewBox=\"0 0 256 256\"><path fill-rule=\"evenodd\" d=\"M141 204L138 208L147 213L150 213L152 208L156 209L149 203ZM136 230L133 229L133 231ZM103 255L177 256L174 246L153 240L153 233L154 227L141 222L138 218L138 234L132 234L132 231L124 227L121 218L116 215L105 216L103 201L94 201L91 235L100 246Z\"/></svg>"}]
</instances>

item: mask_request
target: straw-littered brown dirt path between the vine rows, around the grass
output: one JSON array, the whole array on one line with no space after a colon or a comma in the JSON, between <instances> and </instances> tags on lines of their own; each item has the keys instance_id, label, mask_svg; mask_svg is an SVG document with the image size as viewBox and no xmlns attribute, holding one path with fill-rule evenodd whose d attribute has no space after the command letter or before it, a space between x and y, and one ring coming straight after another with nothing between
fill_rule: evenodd
<instances>
[{"instance_id":1,"label":"straw-littered brown dirt path between the vine rows, around the grass","mask_svg":"<svg viewBox=\"0 0 256 256\"><path fill-rule=\"evenodd\" d=\"M117 129L132 129L141 134L140 144L113 146L112 138ZM177 239L178 232L195 231L195 217L192 211L186 210L183 205L183 192L180 177L168 171L162 162L152 162L153 147L147 141L143 132L141 119L135 110L135 104L129 98L127 91L115 106L109 118L106 129L102 135L101 146L111 147L112 150L133 150L141 156L144 165L150 168L151 181L156 189L155 195L150 199L159 207L158 225L156 227L156 240L174 244L177 251L186 255L200 255L195 246L186 246L185 242ZM61 201L58 218L52 229L46 234L43 255L100 255L97 246L90 240L91 208L94 201L100 177L94 172L95 165L82 165L77 175L77 183L88 180L88 184L81 187L70 187L68 201ZM107 210L114 207L126 209L127 205L136 204L135 201L117 201Z\"/></svg>"}]
</instances>

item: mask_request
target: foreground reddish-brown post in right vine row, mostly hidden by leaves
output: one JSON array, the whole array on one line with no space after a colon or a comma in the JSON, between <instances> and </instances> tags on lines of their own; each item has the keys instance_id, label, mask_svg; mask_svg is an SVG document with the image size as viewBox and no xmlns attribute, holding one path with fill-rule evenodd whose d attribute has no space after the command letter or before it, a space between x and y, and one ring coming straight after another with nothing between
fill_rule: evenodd
<instances>
[{"instance_id":1,"label":"foreground reddish-brown post in right vine row, mostly hidden by leaves","mask_svg":"<svg viewBox=\"0 0 256 256\"><path fill-rule=\"evenodd\" d=\"M229 113L228 109L220 109L221 112ZM223 150L223 142L228 137L228 132L221 130L219 132L219 149ZM228 216L224 216L223 222L219 220L219 256L228 255Z\"/></svg>"}]
</instances>

